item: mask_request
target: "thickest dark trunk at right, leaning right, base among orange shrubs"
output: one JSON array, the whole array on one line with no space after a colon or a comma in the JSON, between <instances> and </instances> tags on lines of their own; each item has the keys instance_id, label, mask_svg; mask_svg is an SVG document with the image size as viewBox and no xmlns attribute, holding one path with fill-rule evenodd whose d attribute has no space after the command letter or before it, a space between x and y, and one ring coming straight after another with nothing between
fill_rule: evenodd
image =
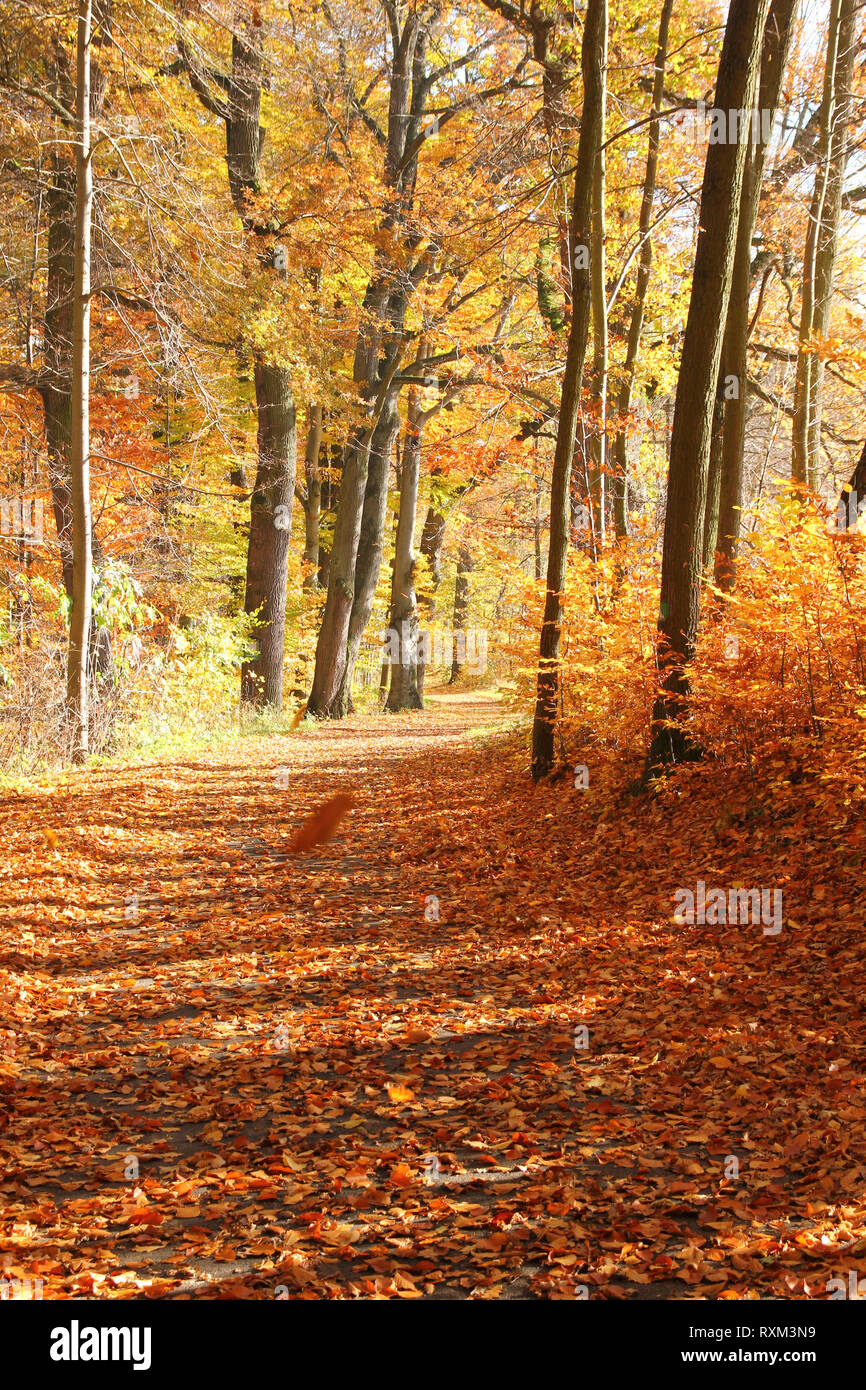
<instances>
[{"instance_id":1,"label":"thickest dark trunk at right, leaning right, base among orange shrubs","mask_svg":"<svg viewBox=\"0 0 866 1390\"><path fill-rule=\"evenodd\" d=\"M758 89L769 0L731 0L716 82L716 108L751 113ZM687 721L687 663L695 653L703 559L703 517L721 335L734 270L748 146L710 143L701 190L698 250L670 441L667 512L659 600L662 688L653 708L645 777L696 758Z\"/></svg>"}]
</instances>

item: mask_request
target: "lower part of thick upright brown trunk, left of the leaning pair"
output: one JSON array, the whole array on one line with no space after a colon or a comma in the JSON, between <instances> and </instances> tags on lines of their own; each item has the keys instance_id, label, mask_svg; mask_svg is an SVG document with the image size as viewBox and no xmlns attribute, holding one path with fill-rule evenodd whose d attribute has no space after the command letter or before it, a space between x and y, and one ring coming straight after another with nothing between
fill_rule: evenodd
<instances>
[{"instance_id":1,"label":"lower part of thick upright brown trunk, left of the leaning pair","mask_svg":"<svg viewBox=\"0 0 866 1390\"><path fill-rule=\"evenodd\" d=\"M281 709L289 527L295 495L295 402L285 367L257 361L254 381L259 442L243 610L257 614L253 639L259 655L242 666L240 699Z\"/></svg>"}]
</instances>

